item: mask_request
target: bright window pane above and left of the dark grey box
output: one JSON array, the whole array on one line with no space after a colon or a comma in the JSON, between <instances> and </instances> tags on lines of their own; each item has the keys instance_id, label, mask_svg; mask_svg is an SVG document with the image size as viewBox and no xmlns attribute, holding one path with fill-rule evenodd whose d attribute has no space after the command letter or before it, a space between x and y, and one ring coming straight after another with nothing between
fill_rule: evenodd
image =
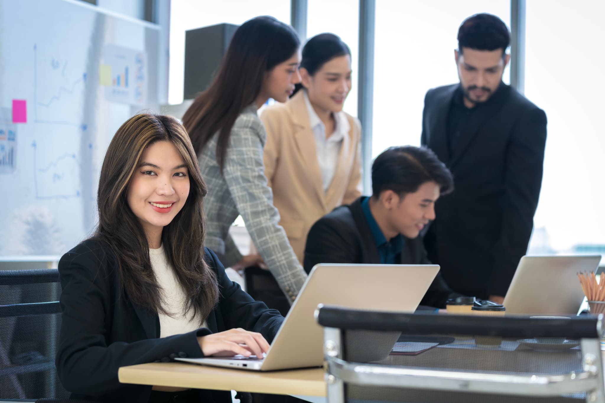
<instances>
[{"instance_id":1,"label":"bright window pane above and left of the dark grey box","mask_svg":"<svg viewBox=\"0 0 605 403\"><path fill-rule=\"evenodd\" d=\"M223 22L242 24L261 15L270 15L290 24L290 1L173 0L170 10L168 103L183 102L186 30Z\"/></svg>"}]
</instances>

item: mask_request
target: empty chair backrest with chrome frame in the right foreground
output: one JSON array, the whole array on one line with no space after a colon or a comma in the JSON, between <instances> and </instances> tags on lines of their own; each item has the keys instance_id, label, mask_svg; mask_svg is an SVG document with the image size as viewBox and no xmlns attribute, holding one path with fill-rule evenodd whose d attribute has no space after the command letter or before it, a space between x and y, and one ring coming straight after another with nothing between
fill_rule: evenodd
<instances>
[{"instance_id":1,"label":"empty chair backrest with chrome frame in the right foreground","mask_svg":"<svg viewBox=\"0 0 605 403\"><path fill-rule=\"evenodd\" d=\"M319 306L316 318L324 327L329 403L605 402L603 315L546 319Z\"/></svg>"}]
</instances>

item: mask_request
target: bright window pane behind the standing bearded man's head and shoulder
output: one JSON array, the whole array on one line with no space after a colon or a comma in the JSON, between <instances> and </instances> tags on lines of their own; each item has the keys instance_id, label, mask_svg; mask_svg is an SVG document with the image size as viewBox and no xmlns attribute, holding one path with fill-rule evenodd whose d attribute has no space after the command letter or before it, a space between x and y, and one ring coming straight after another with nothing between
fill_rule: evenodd
<instances>
[{"instance_id":1,"label":"bright window pane behind the standing bearded man's head and shoulder","mask_svg":"<svg viewBox=\"0 0 605 403\"><path fill-rule=\"evenodd\" d=\"M424 95L458 82L458 28L476 13L497 15L510 28L509 0L376 2L373 156L390 146L420 144ZM506 83L509 77L506 68Z\"/></svg>"}]
</instances>

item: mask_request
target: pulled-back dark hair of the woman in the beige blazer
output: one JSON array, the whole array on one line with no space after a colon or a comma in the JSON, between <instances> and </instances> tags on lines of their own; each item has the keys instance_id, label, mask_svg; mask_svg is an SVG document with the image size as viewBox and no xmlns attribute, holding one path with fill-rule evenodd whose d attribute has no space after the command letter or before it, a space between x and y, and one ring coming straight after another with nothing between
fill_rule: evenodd
<instances>
[{"instance_id":1,"label":"pulled-back dark hair of the woman in the beige blazer","mask_svg":"<svg viewBox=\"0 0 605 403\"><path fill-rule=\"evenodd\" d=\"M346 55L351 56L351 50L347 44L342 42L340 37L330 33L318 34L307 40L302 48L300 68L306 68L311 76L315 76L315 73L325 63L335 57ZM302 83L296 84L292 95L296 94L301 88L303 88Z\"/></svg>"}]
</instances>

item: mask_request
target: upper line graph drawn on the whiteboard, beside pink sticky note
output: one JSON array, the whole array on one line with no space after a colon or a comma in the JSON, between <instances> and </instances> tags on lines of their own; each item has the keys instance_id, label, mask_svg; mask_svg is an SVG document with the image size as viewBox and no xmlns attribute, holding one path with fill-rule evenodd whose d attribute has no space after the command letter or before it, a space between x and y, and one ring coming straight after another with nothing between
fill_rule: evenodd
<instances>
[{"instance_id":1,"label":"upper line graph drawn on the whiteboard, beside pink sticky note","mask_svg":"<svg viewBox=\"0 0 605 403\"><path fill-rule=\"evenodd\" d=\"M46 123L46 124L62 124L65 126L78 127L80 130L85 131L88 128L86 123L74 120L74 117L78 115L77 103L80 102L79 97L82 96L87 81L87 73L78 73L76 79L67 82L67 75L69 75L67 69L68 62L61 62L54 56L50 57L47 66L47 73L41 73L39 65L41 62L39 58L38 44L34 44L34 122L35 123ZM46 57L43 59L48 60ZM62 67L61 67L62 66ZM66 73L67 70L67 73ZM52 73L56 71L57 73ZM52 74L57 74L56 79L51 79ZM62 78L61 78L62 77ZM72 76L73 77L73 76ZM60 81L62 80L62 82ZM67 82L67 83L66 83ZM46 91L41 91L40 85L45 83L47 85ZM59 84L59 88L50 88L56 84ZM43 92L41 94L41 92ZM66 100L65 97L70 99ZM76 106L74 107L74 102ZM70 105L71 104L71 105Z\"/></svg>"}]
</instances>

